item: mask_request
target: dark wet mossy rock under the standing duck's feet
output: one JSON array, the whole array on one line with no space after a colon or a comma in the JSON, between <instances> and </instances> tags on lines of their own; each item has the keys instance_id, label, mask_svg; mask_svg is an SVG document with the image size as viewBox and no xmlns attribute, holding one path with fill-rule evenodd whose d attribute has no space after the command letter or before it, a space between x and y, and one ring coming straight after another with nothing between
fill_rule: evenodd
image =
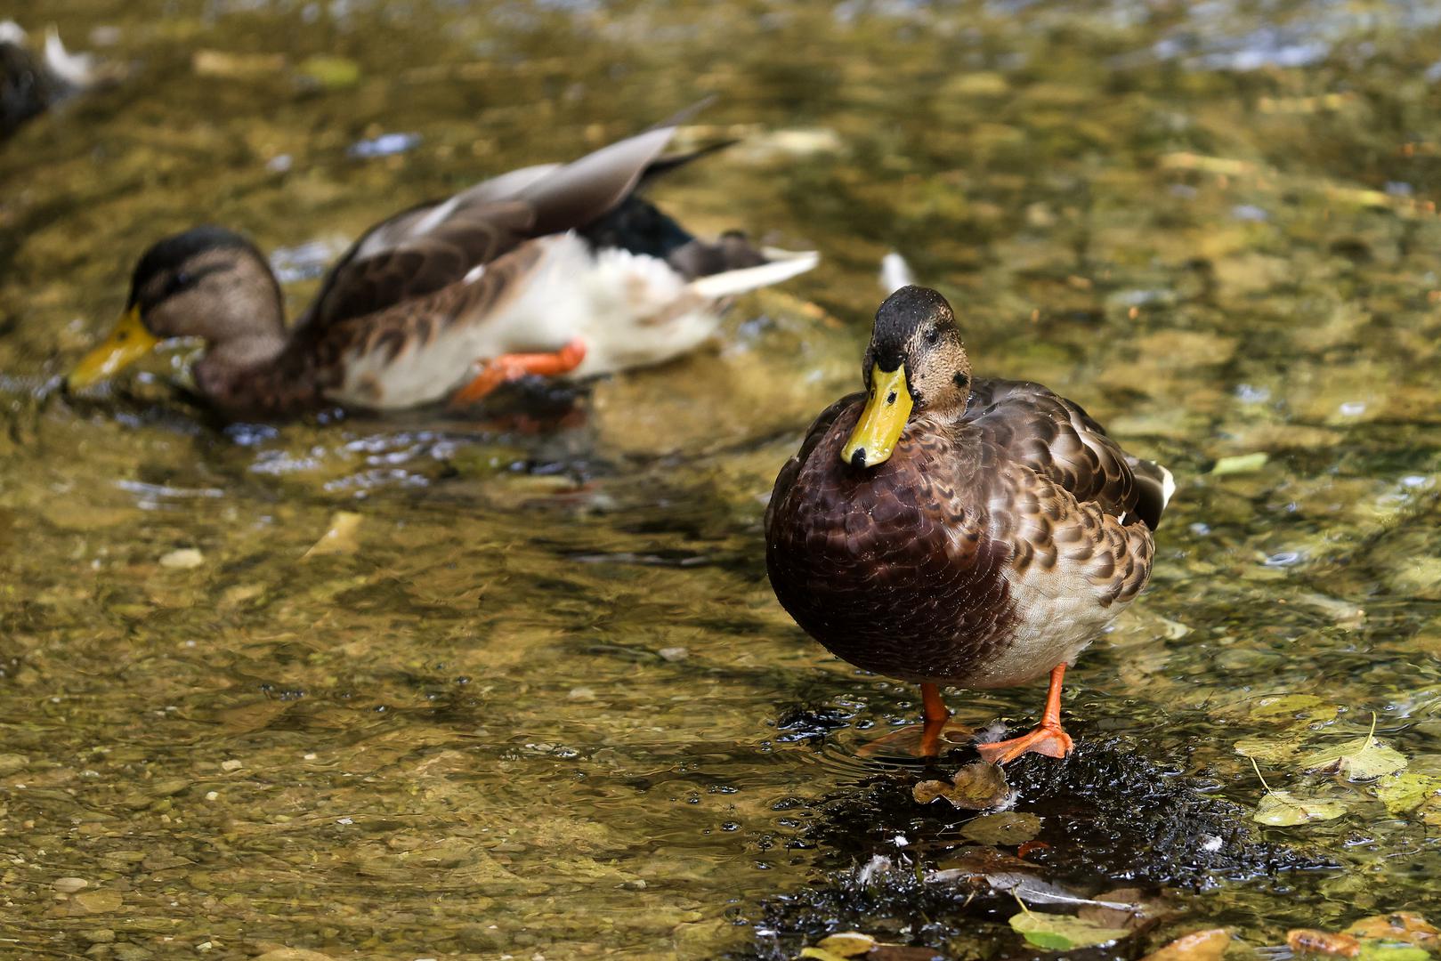
<instances>
[{"instance_id":1,"label":"dark wet mossy rock under the standing duck's feet","mask_svg":"<svg viewBox=\"0 0 1441 961\"><path fill-rule=\"evenodd\" d=\"M1331 866L1259 839L1245 810L1206 792L1209 782L1150 761L1123 739L1078 742L1065 761L1027 755L1006 772L1014 811L1040 818L1025 846L973 844L965 826L976 815L918 804L915 769L870 778L823 804L803 840L829 852L830 873L762 905L757 948L739 957L794 957L830 932L855 929L951 957L1042 958L1045 951L1006 924L1017 911L1016 890L1105 900L1130 888L1151 899L1164 888L1200 890ZM1138 957L1143 945L1133 941L1066 957Z\"/></svg>"}]
</instances>

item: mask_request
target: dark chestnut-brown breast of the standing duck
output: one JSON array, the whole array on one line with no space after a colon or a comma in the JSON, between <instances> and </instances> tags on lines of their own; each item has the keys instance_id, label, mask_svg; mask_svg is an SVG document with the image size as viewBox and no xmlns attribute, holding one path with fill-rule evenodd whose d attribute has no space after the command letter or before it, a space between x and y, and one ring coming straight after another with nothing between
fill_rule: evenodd
<instances>
[{"instance_id":1,"label":"dark chestnut-brown breast of the standing duck","mask_svg":"<svg viewBox=\"0 0 1441 961\"><path fill-rule=\"evenodd\" d=\"M964 475L976 460L942 435L906 431L870 470L840 461L863 401L855 395L823 414L830 424L817 422L811 448L777 478L767 511L771 585L837 657L904 680L964 684L1014 620L1009 547L986 536L983 499L937 480Z\"/></svg>"}]
</instances>

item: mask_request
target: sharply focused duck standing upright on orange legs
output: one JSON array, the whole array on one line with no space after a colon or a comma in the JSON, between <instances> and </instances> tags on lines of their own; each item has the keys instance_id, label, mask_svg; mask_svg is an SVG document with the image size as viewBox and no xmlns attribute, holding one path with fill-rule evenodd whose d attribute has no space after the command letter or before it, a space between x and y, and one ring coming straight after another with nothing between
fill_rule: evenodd
<instances>
[{"instance_id":1,"label":"sharply focused duck standing upright on orange legs","mask_svg":"<svg viewBox=\"0 0 1441 961\"><path fill-rule=\"evenodd\" d=\"M927 287L880 304L862 383L775 478L777 599L837 657L921 686L922 756L950 718L941 686L1045 674L1040 723L978 751L1066 756L1062 679L1146 586L1170 471L1039 383L973 377L951 304Z\"/></svg>"}]
</instances>

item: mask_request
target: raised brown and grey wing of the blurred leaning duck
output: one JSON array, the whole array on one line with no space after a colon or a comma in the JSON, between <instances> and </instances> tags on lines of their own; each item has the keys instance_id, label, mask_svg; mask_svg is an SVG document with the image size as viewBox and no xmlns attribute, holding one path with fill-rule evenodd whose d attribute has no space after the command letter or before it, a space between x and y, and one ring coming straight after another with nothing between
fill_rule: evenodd
<instances>
[{"instance_id":1,"label":"raised brown and grey wing of the blurred leaning duck","mask_svg":"<svg viewBox=\"0 0 1441 961\"><path fill-rule=\"evenodd\" d=\"M378 223L330 269L297 331L434 294L529 239L591 223L647 173L677 163L661 157L674 133L673 121L572 163L513 170Z\"/></svg>"}]
</instances>

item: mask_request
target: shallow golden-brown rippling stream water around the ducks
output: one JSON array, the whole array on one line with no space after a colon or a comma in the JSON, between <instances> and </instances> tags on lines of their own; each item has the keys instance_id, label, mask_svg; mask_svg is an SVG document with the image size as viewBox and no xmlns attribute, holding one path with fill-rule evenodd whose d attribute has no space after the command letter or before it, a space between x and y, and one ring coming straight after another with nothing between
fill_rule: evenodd
<instances>
[{"instance_id":1,"label":"shallow golden-brown rippling stream water around the ducks","mask_svg":"<svg viewBox=\"0 0 1441 961\"><path fill-rule=\"evenodd\" d=\"M859 380L889 249L957 304L978 372L1056 388L1177 477L1151 589L1068 676L1076 733L1131 735L1254 807L1236 741L1308 723L1324 745L1375 712L1409 771L1441 775L1425 4L3 13L130 66L0 146L17 957L746 949L767 896L831 866L795 840L816 804L873 774L856 749L918 707L800 634L761 545L777 468ZM690 134L744 141L657 200L824 264L568 416L220 431L169 386L183 354L55 390L166 232L222 222L282 248L300 305L375 219L709 92ZM340 510L360 516L353 549L307 558ZM986 723L1040 694L951 702ZM846 726L790 736L800 707ZM1268 831L1344 869L1219 885L1192 925L1259 945L1441 913L1418 815L1262 769L1347 803Z\"/></svg>"}]
</instances>

